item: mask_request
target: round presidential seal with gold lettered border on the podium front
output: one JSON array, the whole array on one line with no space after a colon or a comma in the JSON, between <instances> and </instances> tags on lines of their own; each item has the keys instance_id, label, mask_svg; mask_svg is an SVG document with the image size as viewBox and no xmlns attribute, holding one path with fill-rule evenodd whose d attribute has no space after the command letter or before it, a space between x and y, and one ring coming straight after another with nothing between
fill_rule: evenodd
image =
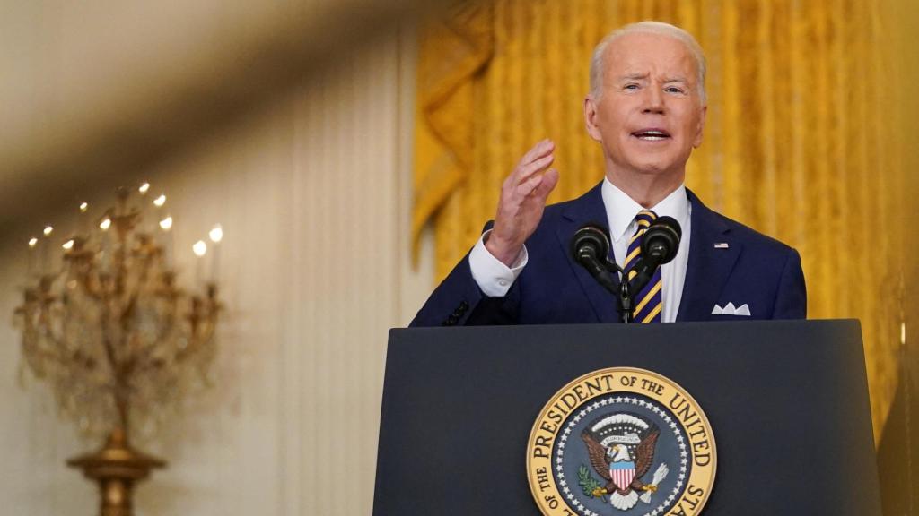
<instances>
[{"instance_id":1,"label":"round presidential seal with gold lettered border on the podium front","mask_svg":"<svg viewBox=\"0 0 919 516\"><path fill-rule=\"evenodd\" d=\"M546 516L692 516L709 499L715 438L673 381L612 367L552 397L529 434L527 474Z\"/></svg>"}]
</instances>

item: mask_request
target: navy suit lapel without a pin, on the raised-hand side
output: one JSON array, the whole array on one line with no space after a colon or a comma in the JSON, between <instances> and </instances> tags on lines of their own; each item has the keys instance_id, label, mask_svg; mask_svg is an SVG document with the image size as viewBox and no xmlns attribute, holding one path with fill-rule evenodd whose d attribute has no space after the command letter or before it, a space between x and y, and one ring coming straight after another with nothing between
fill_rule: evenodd
<instances>
[{"instance_id":1,"label":"navy suit lapel without a pin, on the raised-hand side","mask_svg":"<svg viewBox=\"0 0 919 516\"><path fill-rule=\"evenodd\" d=\"M584 290L584 295L594 308L596 319L600 322L618 322L616 297L600 286L581 264L575 262L571 252L571 239L574 231L579 230L584 224L593 223L607 228L607 210L603 206L601 185L602 183L591 188L584 196L573 200L563 209L556 236L569 266Z\"/></svg>"}]
</instances>

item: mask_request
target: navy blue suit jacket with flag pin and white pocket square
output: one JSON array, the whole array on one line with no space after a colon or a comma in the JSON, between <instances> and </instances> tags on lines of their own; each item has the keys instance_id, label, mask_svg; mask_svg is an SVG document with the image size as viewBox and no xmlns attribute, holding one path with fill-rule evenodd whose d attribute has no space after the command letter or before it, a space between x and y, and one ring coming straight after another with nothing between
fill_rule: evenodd
<instances>
[{"instance_id":1,"label":"navy blue suit jacket with flag pin and white pocket square","mask_svg":"<svg viewBox=\"0 0 919 516\"><path fill-rule=\"evenodd\" d=\"M706 208L688 189L692 235L676 320L803 319L804 274L798 252ZM546 207L526 245L528 264L505 297L487 297L472 278L467 255L437 286L412 326L618 322L616 298L570 251L574 231L602 222L600 185L572 201ZM716 248L716 243L727 243ZM728 303L750 317L712 315Z\"/></svg>"}]
</instances>

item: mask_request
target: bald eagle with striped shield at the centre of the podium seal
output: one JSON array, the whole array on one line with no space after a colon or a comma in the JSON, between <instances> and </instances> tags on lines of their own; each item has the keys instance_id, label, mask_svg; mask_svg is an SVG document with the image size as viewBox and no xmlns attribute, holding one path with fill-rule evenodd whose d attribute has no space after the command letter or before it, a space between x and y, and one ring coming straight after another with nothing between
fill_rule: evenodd
<instances>
[{"instance_id":1,"label":"bald eagle with striped shield at the centre of the podium seal","mask_svg":"<svg viewBox=\"0 0 919 516\"><path fill-rule=\"evenodd\" d=\"M609 495L610 505L618 510L630 510L639 499L651 503L652 494L669 472L662 462L650 481L644 479L651 470L660 433L657 425L630 412L606 415L590 423L581 432L581 439L587 446L590 465L606 483L588 478L586 467L582 467L584 494L594 498Z\"/></svg>"}]
</instances>

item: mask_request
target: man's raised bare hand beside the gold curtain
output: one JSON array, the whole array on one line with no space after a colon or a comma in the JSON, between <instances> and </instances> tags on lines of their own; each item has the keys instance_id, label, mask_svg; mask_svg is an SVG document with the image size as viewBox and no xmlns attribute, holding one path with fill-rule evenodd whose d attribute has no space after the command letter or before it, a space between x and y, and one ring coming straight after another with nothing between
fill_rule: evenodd
<instances>
[{"instance_id":1,"label":"man's raised bare hand beside the gold curtain","mask_svg":"<svg viewBox=\"0 0 919 516\"><path fill-rule=\"evenodd\" d=\"M542 219L546 197L559 182L559 172L549 169L555 160L555 144L542 140L517 163L504 185L494 216L494 230L485 241L488 252L511 266Z\"/></svg>"}]
</instances>

